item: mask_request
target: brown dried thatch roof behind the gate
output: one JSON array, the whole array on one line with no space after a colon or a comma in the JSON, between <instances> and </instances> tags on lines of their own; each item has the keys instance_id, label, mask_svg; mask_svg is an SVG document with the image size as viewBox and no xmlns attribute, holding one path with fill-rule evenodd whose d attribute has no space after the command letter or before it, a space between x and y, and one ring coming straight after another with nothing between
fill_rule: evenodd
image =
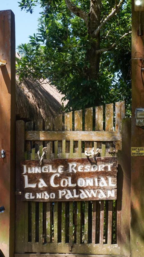
<instances>
[{"instance_id":1,"label":"brown dried thatch roof behind the gate","mask_svg":"<svg viewBox=\"0 0 144 257\"><path fill-rule=\"evenodd\" d=\"M16 77L16 118L24 120L45 119L62 113L61 95L55 86L45 81ZM66 102L63 103L65 106Z\"/></svg>"}]
</instances>

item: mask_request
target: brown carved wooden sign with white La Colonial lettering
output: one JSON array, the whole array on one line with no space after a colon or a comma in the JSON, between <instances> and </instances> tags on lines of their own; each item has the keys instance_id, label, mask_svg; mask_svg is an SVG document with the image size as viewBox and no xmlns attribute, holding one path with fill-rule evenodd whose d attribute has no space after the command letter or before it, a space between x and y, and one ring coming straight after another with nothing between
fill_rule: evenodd
<instances>
[{"instance_id":1,"label":"brown carved wooden sign with white La Colonial lettering","mask_svg":"<svg viewBox=\"0 0 144 257\"><path fill-rule=\"evenodd\" d=\"M22 200L113 200L117 195L116 157L21 162Z\"/></svg>"}]
</instances>

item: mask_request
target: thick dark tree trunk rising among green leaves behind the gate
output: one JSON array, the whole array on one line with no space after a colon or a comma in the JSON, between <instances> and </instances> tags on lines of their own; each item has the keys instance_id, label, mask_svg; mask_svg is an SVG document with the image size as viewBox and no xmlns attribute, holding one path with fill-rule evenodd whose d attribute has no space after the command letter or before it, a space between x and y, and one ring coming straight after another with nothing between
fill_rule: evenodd
<instances>
[{"instance_id":1,"label":"thick dark tree trunk rising among green leaves behind the gate","mask_svg":"<svg viewBox=\"0 0 144 257\"><path fill-rule=\"evenodd\" d=\"M97 79L100 65L100 54L96 54L96 50L100 49L100 33L96 37L93 37L92 34L100 25L100 12L101 0L91 0L87 33L90 37L95 39L95 41L91 43L91 48L87 50L86 61L90 66L89 68L86 67L85 71L87 77L94 80Z\"/></svg>"}]
</instances>

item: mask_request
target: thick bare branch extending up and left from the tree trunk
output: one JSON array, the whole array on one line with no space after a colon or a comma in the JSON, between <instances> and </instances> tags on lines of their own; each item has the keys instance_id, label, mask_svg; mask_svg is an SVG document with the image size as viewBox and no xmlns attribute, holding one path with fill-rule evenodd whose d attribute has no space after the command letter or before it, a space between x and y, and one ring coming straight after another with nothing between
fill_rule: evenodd
<instances>
[{"instance_id":1,"label":"thick bare branch extending up and left from the tree trunk","mask_svg":"<svg viewBox=\"0 0 144 257\"><path fill-rule=\"evenodd\" d=\"M78 8L76 5L72 4L70 0L65 0L66 6L69 9L69 11L76 16L83 19L88 27L88 14L82 11L80 8Z\"/></svg>"}]
</instances>

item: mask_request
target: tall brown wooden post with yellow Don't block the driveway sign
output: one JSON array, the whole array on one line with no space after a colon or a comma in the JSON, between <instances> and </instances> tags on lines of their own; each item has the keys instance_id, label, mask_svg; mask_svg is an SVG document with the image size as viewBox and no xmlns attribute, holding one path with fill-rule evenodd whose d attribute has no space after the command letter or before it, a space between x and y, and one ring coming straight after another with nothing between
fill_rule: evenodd
<instances>
[{"instance_id":1,"label":"tall brown wooden post with yellow Don't block the driveway sign","mask_svg":"<svg viewBox=\"0 0 144 257\"><path fill-rule=\"evenodd\" d=\"M139 12L132 1L132 131L131 147L144 147L144 130L135 125L135 108L144 108L144 36L138 36ZM141 12L144 33L144 12ZM139 59L142 58L142 59ZM142 80L142 77L143 80ZM144 156L131 157L131 256L144 256Z\"/></svg>"}]
</instances>

